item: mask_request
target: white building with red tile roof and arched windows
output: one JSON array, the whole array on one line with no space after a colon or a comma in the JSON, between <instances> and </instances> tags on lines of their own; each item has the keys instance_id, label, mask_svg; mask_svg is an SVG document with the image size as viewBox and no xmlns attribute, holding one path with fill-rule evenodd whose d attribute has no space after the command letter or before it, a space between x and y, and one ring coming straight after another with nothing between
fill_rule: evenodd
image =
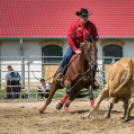
<instances>
[{"instance_id":1,"label":"white building with red tile roof and arched windows","mask_svg":"<svg viewBox=\"0 0 134 134\"><path fill-rule=\"evenodd\" d=\"M61 58L41 56L63 56L68 47L66 35L70 24L78 19L75 11L81 7L92 11L89 19L95 23L100 36L97 42L98 57L134 57L134 1L7 1L1 0L0 55L1 71L8 64L28 78L28 57L31 71L55 71ZM90 6L88 6L90 5ZM24 59L22 58L24 57ZM111 63L111 59L98 59L99 63ZM23 63L20 65L20 63ZM6 65L4 65L6 64ZM19 65L15 65L19 64ZM50 65L51 64L51 65ZM4 82L6 72L1 72ZM53 72L35 72L38 78L53 75ZM30 81L35 83L33 73ZM49 81L51 82L51 81Z\"/></svg>"}]
</instances>

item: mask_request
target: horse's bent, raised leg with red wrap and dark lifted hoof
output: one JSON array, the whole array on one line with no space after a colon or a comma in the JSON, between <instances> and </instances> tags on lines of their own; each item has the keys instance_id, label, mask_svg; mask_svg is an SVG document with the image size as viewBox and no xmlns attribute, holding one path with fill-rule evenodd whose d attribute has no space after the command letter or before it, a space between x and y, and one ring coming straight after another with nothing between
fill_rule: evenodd
<instances>
[{"instance_id":1,"label":"horse's bent, raised leg with red wrap and dark lifted hoof","mask_svg":"<svg viewBox=\"0 0 134 134\"><path fill-rule=\"evenodd\" d=\"M61 101L56 105L56 108L59 110L63 107L65 101L67 100L69 94L70 94L70 88L71 88L71 81L70 80L65 80L64 81L64 85L66 88L66 93L64 95L64 97L61 99Z\"/></svg>"}]
</instances>

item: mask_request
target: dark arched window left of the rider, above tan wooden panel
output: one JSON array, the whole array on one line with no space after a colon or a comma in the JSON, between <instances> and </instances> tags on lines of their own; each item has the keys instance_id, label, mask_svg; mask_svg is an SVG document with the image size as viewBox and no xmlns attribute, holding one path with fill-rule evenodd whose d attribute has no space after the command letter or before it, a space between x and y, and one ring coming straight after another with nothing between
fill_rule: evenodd
<instances>
[{"instance_id":1,"label":"dark arched window left of the rider, above tan wooden panel","mask_svg":"<svg viewBox=\"0 0 134 134\"><path fill-rule=\"evenodd\" d=\"M47 45L42 48L42 55L48 56L43 58L44 63L59 64L62 58L57 58L56 56L63 56L62 47L57 45ZM49 56L53 57L50 58Z\"/></svg>"}]
</instances>

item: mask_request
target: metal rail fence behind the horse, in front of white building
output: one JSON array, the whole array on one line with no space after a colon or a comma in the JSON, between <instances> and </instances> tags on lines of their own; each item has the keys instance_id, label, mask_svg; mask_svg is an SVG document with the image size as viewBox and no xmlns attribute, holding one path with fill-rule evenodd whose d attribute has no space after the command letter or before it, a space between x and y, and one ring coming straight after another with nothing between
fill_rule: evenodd
<instances>
[{"instance_id":1,"label":"metal rail fence behind the horse, in front of white building","mask_svg":"<svg viewBox=\"0 0 134 134\"><path fill-rule=\"evenodd\" d=\"M47 62L44 59L47 58ZM109 67L119 60L121 57L98 57L98 69L96 72L96 79L100 84L100 89L94 92L97 97L99 92L104 88L106 83L106 76L108 74ZM51 60L49 60L51 59ZM34 74L38 79L47 79L52 76L58 68L61 61L61 56L18 56L18 57L0 57L0 98L4 97L4 90L10 88L10 92L7 91L7 95L11 95L11 98L16 94L21 101L22 99L27 99L30 101L35 98L38 100L38 92L36 87L39 85L39 81L34 77ZM45 60L46 61L46 60ZM7 84L7 66L11 65L13 67L13 72L17 71L21 77L10 78L8 81L20 81L17 85ZM52 80L49 81L50 85ZM21 88L21 92L14 92L14 88ZM59 90L56 92L56 96L62 97L65 90L62 92ZM23 98L23 95L27 97Z\"/></svg>"}]
</instances>

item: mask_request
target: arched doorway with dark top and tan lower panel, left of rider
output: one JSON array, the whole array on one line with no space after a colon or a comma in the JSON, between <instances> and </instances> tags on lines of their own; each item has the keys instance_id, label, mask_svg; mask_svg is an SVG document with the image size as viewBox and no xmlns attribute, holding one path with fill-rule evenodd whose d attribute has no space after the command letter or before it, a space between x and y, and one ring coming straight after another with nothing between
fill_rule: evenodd
<instances>
[{"instance_id":1,"label":"arched doorway with dark top and tan lower panel, left of rider","mask_svg":"<svg viewBox=\"0 0 134 134\"><path fill-rule=\"evenodd\" d=\"M42 58L43 70L44 71L56 71L58 69L59 63L61 62L62 58L58 58L56 56L63 56L62 47L58 45L47 45L42 48ZM49 78L54 75L55 72L44 72L44 78ZM50 79L48 82L52 83L53 79Z\"/></svg>"}]
</instances>

